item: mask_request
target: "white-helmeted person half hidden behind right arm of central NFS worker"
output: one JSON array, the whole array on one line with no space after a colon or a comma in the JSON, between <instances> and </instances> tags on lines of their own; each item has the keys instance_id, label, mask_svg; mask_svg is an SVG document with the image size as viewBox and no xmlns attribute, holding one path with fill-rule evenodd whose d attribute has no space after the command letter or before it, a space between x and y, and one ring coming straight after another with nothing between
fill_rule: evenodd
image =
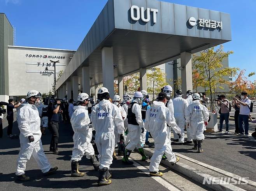
<instances>
[{"instance_id":1,"label":"white-helmeted person half hidden behind right arm of central NFS worker","mask_svg":"<svg viewBox=\"0 0 256 191\"><path fill-rule=\"evenodd\" d=\"M113 103L118 107L119 112L121 112L121 115L123 117L123 121L125 121L127 119L127 114L126 114L126 111L124 110L124 108L120 106L120 102L121 102L120 96L115 95L114 98L113 98ZM118 146L117 154L122 156L122 155L124 155L124 151L123 151L124 148L122 148L122 146L124 147L123 143L125 143L124 129L123 129L123 132L121 134L119 134L118 129L115 126L114 133L115 133L115 138L116 138L115 139L115 146ZM113 158L117 159L115 151L114 151L114 154L113 154Z\"/></svg>"}]
</instances>

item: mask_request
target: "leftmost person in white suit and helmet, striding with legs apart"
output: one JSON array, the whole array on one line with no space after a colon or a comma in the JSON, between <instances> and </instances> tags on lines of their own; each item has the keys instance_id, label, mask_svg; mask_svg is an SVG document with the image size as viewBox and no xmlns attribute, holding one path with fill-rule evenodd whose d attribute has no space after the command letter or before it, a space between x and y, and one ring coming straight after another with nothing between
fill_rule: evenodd
<instances>
[{"instance_id":1,"label":"leftmost person in white suit and helmet, striding with legs apart","mask_svg":"<svg viewBox=\"0 0 256 191\"><path fill-rule=\"evenodd\" d=\"M40 117L37 107L41 93L31 90L27 93L28 102L18 110L17 121L19 127L19 141L21 149L19 151L18 166L16 171L17 179L20 181L28 181L30 177L25 175L26 163L33 156L37 165L45 175L52 174L58 167L52 168L41 142L42 133L40 131Z\"/></svg>"}]
</instances>

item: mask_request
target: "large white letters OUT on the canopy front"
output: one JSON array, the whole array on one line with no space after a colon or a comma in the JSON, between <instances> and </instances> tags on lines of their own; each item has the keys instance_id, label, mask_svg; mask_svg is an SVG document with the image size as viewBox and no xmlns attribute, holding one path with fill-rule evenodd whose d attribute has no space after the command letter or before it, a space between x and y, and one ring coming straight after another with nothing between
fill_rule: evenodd
<instances>
[{"instance_id":1,"label":"large white letters OUT on the canopy front","mask_svg":"<svg viewBox=\"0 0 256 191\"><path fill-rule=\"evenodd\" d=\"M131 7L131 18L133 21L139 21L140 19L143 22L149 22L150 21L150 13L153 12L153 23L156 23L156 13L158 13L158 9L146 9L146 17L144 14L145 8L144 7L138 7L136 5L133 5Z\"/></svg>"}]
</instances>

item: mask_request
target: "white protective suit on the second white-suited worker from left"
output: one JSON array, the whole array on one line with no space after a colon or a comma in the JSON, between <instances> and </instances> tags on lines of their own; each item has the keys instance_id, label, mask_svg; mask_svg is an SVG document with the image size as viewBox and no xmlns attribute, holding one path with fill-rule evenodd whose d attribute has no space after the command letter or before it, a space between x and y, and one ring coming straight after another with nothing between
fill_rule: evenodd
<instances>
[{"instance_id":1,"label":"white protective suit on the second white-suited worker from left","mask_svg":"<svg viewBox=\"0 0 256 191\"><path fill-rule=\"evenodd\" d=\"M70 119L74 135L74 148L72 151L71 161L80 161L86 154L86 158L90 159L91 155L94 155L93 145L91 144L91 138L93 136L92 129L89 128L90 119L88 115L87 106L75 106L75 112Z\"/></svg>"}]
</instances>

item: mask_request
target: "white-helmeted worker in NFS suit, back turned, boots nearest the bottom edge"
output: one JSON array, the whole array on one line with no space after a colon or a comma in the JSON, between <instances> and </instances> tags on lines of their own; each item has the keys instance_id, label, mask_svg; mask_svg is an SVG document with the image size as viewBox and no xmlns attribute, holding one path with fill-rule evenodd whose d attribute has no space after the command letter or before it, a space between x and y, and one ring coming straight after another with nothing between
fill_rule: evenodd
<instances>
[{"instance_id":1,"label":"white-helmeted worker in NFS suit, back turned, boots nearest the bottom edge","mask_svg":"<svg viewBox=\"0 0 256 191\"><path fill-rule=\"evenodd\" d=\"M99 152L99 186L111 184L111 174L108 169L112 164L112 155L115 149L114 127L117 127L119 134L124 131L121 112L116 105L109 101L109 98L109 90L104 87L100 88L98 90L100 103L95 105L91 112L91 122L96 131L95 141Z\"/></svg>"}]
</instances>

